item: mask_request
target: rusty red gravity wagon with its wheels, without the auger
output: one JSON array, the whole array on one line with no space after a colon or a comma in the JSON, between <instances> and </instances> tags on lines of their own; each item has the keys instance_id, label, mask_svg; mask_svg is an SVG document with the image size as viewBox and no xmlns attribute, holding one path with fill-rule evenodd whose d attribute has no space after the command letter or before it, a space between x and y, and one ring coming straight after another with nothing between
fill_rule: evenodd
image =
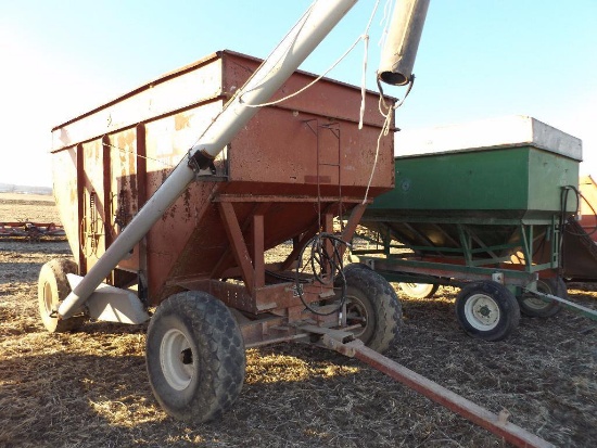
<instances>
[{"instance_id":1,"label":"rusty red gravity wagon with its wheels, without the auger","mask_svg":"<svg viewBox=\"0 0 597 448\"><path fill-rule=\"evenodd\" d=\"M208 419L236 398L244 347L341 329L383 350L397 332L401 309L385 281L368 269L342 271L366 196L393 187L393 135L380 138L378 94L367 92L359 130L360 89L330 79L261 107L85 306L56 319L59 300L174 165L192 166L189 148L259 63L220 51L52 130L54 194L77 264L43 267L42 319L51 331L86 318L140 323L157 306L148 331L150 381L164 408L186 420ZM313 80L295 72L274 100ZM346 214L333 234L333 218ZM285 257L267 263L266 252L280 245ZM199 374L200 366L209 373ZM205 384L189 413L189 399L176 392L191 382Z\"/></svg>"}]
</instances>

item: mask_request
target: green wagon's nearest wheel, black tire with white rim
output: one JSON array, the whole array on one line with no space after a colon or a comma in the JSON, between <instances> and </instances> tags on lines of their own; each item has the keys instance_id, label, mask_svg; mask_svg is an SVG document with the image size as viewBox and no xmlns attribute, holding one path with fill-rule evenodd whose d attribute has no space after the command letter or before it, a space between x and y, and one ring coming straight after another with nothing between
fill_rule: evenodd
<instances>
[{"instance_id":1,"label":"green wagon's nearest wheel, black tire with white rim","mask_svg":"<svg viewBox=\"0 0 597 448\"><path fill-rule=\"evenodd\" d=\"M503 284L472 282L456 297L456 318L468 335L501 341L518 327L520 308L515 295Z\"/></svg>"}]
</instances>

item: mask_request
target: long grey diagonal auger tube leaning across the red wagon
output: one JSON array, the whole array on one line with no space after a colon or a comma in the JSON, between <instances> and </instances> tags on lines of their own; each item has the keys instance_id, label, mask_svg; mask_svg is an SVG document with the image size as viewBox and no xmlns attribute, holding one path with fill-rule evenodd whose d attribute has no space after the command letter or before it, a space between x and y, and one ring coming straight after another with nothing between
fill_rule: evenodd
<instances>
[{"instance_id":1,"label":"long grey diagonal auger tube leaning across the red wagon","mask_svg":"<svg viewBox=\"0 0 597 448\"><path fill-rule=\"evenodd\" d=\"M309 7L268 59L225 105L201 136L199 143L190 150L189 157L193 157L200 167L204 166L205 161L215 158L257 112L256 107L247 107L245 104L267 102L356 2L357 0L317 0ZM59 319L68 319L82 307L93 291L150 231L194 177L195 172L185 156L123 233L62 302L58 309Z\"/></svg>"}]
</instances>

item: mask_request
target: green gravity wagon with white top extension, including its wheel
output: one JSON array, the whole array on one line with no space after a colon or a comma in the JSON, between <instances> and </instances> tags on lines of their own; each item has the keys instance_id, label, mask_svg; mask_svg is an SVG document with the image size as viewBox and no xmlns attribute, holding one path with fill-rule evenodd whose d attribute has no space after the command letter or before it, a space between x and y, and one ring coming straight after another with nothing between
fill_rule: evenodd
<instances>
[{"instance_id":1,"label":"green gravity wagon with white top extension, including its wheel","mask_svg":"<svg viewBox=\"0 0 597 448\"><path fill-rule=\"evenodd\" d=\"M421 295L461 286L459 323L484 340L507 337L520 311L572 306L561 247L577 209L579 139L513 116L412 132L397 152L396 187L363 218L379 245L357 251L361 263Z\"/></svg>"}]
</instances>

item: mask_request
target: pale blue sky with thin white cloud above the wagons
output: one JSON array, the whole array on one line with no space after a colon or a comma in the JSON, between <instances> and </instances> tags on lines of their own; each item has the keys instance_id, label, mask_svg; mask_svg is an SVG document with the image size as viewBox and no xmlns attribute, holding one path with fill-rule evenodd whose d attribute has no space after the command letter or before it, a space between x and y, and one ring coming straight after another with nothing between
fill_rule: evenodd
<instances>
[{"instance_id":1,"label":"pale blue sky with thin white cloud above the wagons","mask_svg":"<svg viewBox=\"0 0 597 448\"><path fill-rule=\"evenodd\" d=\"M310 3L0 0L0 183L51 187L53 127L217 50L267 57ZM369 29L371 90L385 3ZM374 4L360 0L301 68L332 66ZM359 42L328 76L360 86L364 54ZM597 179L597 0L431 0L414 73L397 127L532 116L582 139L581 172Z\"/></svg>"}]
</instances>

